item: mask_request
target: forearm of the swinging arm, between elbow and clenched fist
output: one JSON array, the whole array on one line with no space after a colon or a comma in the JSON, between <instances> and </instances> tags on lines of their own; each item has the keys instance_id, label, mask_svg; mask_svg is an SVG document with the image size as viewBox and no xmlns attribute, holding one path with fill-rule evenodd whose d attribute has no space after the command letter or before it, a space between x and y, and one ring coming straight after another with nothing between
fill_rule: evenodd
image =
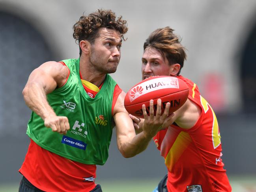
<instances>
[{"instance_id":1,"label":"forearm of the swinging arm, between elbow and clenched fist","mask_svg":"<svg viewBox=\"0 0 256 192\"><path fill-rule=\"evenodd\" d=\"M30 82L26 84L22 94L26 105L43 120L48 116L56 115L47 101L43 86L39 83Z\"/></svg>"}]
</instances>

